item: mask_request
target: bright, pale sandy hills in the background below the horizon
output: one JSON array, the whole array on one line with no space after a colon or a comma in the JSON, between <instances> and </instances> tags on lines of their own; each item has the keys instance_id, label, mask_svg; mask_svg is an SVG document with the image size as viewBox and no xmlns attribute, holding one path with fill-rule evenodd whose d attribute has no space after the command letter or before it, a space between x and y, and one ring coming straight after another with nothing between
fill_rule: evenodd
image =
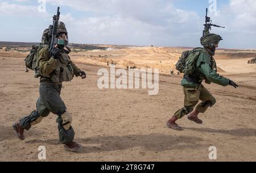
<instances>
[{"instance_id":1,"label":"bright, pale sandy hills in the background below the horizon","mask_svg":"<svg viewBox=\"0 0 256 173\"><path fill-rule=\"evenodd\" d=\"M106 66L112 62L120 68L136 66L138 68L158 68L160 73L175 73L175 64L184 48L163 48L163 47L131 47L129 49L114 49L87 51L72 53L76 61L86 64ZM100 57L99 57L100 56ZM255 71L255 65L248 65L247 61L256 57L255 51L247 50L218 50L216 60L220 72L226 73L249 73Z\"/></svg>"}]
</instances>

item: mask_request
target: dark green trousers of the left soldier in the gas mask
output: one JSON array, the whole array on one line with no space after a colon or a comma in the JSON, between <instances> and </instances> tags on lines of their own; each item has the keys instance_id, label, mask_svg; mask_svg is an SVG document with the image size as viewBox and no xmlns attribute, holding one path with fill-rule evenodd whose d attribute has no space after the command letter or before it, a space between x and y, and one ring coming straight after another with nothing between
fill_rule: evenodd
<instances>
[{"instance_id":1,"label":"dark green trousers of the left soldier in the gas mask","mask_svg":"<svg viewBox=\"0 0 256 173\"><path fill-rule=\"evenodd\" d=\"M75 132L72 126L65 130L62 125L63 119L61 119L61 115L67 108L60 97L61 87L62 85L41 83L39 87L40 96L36 101L36 111L20 119L20 125L22 128L29 130L31 125L39 124L44 117L47 117L52 112L57 115L56 123L58 123L60 142L68 144L73 141Z\"/></svg>"}]
</instances>

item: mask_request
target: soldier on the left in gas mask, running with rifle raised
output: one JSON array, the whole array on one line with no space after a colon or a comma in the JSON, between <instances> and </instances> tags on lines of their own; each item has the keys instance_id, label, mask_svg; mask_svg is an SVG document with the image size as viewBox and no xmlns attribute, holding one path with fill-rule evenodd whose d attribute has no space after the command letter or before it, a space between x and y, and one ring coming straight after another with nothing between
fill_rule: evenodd
<instances>
[{"instance_id":1,"label":"soldier on the left in gas mask, running with rifle raised","mask_svg":"<svg viewBox=\"0 0 256 173\"><path fill-rule=\"evenodd\" d=\"M59 129L59 139L64 148L70 151L77 151L80 144L73 141L75 132L71 126L72 115L68 112L63 100L60 97L62 82L71 81L76 77L86 78L84 71L80 70L69 57L71 49L68 45L68 32L63 22L59 22L57 38L64 40L64 45L55 45L52 49L52 57L49 57L49 29L46 29L42 37L42 47L38 50L38 71L40 76L40 96L36 102L36 111L23 117L13 124L16 135L24 140L24 129L29 130L31 126L39 124L50 112L57 115L56 123Z\"/></svg>"}]
</instances>

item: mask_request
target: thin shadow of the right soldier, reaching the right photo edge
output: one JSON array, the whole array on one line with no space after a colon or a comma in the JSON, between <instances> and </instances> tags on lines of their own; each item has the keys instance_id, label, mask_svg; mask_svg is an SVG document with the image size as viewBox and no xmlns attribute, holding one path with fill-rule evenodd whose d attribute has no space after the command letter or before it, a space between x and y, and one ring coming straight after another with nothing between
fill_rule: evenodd
<instances>
[{"instance_id":1,"label":"thin shadow of the right soldier, reaching the right photo edge","mask_svg":"<svg viewBox=\"0 0 256 173\"><path fill-rule=\"evenodd\" d=\"M211 128L184 128L187 130L193 130L197 132L207 132L207 133L221 133L221 134L229 134L231 136L255 136L256 137L256 129L232 129L232 130L223 130L223 129L211 129Z\"/></svg>"}]
</instances>

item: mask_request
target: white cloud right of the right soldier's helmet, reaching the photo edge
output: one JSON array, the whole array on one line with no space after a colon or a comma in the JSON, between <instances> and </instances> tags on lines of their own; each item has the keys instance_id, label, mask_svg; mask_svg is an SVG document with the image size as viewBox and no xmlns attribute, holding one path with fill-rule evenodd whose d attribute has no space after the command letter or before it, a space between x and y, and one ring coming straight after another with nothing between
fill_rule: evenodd
<instances>
[{"instance_id":1,"label":"white cloud right of the right soldier's helmet, reaching the photo edge","mask_svg":"<svg viewBox=\"0 0 256 173\"><path fill-rule=\"evenodd\" d=\"M231 48L256 48L256 1L230 0L229 5L218 10L220 12L212 19L214 23L226 28L213 28L213 31L223 35L221 45Z\"/></svg>"}]
</instances>

